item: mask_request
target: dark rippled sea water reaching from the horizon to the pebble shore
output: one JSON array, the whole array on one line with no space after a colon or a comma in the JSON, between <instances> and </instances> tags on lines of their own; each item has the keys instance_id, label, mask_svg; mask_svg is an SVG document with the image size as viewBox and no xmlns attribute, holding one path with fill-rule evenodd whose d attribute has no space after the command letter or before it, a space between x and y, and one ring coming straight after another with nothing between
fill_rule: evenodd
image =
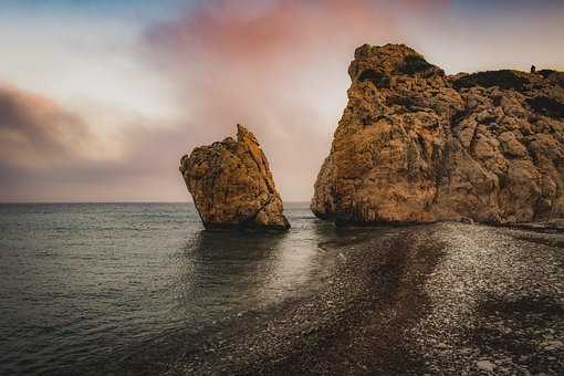
<instances>
[{"instance_id":1,"label":"dark rippled sea water reaching from the horizon to the pebble shore","mask_svg":"<svg viewBox=\"0 0 564 376\"><path fill-rule=\"evenodd\" d=\"M96 374L158 338L312 293L338 234L202 231L189 203L0 205L0 375Z\"/></svg>"}]
</instances>

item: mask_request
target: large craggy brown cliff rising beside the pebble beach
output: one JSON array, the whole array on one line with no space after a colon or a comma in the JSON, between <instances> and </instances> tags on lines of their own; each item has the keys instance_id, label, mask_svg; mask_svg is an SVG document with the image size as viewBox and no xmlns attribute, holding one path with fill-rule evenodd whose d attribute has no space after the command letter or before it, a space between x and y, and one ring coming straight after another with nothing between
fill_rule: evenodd
<instances>
[{"instance_id":1,"label":"large craggy brown cliff rising beside the pebble beach","mask_svg":"<svg viewBox=\"0 0 564 376\"><path fill-rule=\"evenodd\" d=\"M564 213L564 74L446 76L363 45L311 202L337 223L530 222Z\"/></svg>"}]
</instances>

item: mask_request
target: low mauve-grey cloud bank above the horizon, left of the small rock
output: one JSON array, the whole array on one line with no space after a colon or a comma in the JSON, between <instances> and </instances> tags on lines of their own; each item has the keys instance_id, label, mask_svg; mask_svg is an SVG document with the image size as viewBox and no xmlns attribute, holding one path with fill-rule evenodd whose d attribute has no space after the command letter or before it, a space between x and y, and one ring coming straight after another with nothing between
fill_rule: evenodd
<instances>
[{"instance_id":1,"label":"low mauve-grey cloud bank above the horizon, left of the small rock","mask_svg":"<svg viewBox=\"0 0 564 376\"><path fill-rule=\"evenodd\" d=\"M0 201L150 200L185 197L181 127L143 119L111 139L51 100L0 86ZM184 195L184 196L180 196Z\"/></svg>"}]
</instances>

